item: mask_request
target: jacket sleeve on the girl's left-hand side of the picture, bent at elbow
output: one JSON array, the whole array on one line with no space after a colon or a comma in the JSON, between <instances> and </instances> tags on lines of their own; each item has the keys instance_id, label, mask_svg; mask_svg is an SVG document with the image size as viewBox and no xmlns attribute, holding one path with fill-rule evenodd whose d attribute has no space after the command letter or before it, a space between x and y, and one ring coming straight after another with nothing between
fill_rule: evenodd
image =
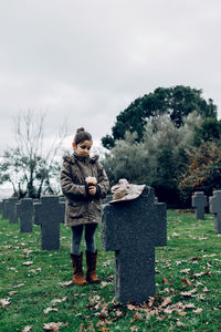
<instances>
[{"instance_id":1,"label":"jacket sleeve on the girl's left-hand side of the picture, bent at elbow","mask_svg":"<svg viewBox=\"0 0 221 332\"><path fill-rule=\"evenodd\" d=\"M61 168L60 184L62 193L70 199L87 197L84 185L76 185L73 183L71 174L71 164L64 162Z\"/></svg>"}]
</instances>

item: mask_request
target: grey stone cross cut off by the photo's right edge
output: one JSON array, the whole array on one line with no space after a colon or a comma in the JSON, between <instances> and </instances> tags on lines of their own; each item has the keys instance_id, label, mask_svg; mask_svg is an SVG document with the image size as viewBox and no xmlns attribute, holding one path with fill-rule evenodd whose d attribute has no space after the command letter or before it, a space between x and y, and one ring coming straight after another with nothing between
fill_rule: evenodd
<instances>
[{"instance_id":1,"label":"grey stone cross cut off by the photo's right edge","mask_svg":"<svg viewBox=\"0 0 221 332\"><path fill-rule=\"evenodd\" d=\"M221 190L213 191L209 198L210 212L214 214L214 231L221 234Z\"/></svg>"}]
</instances>

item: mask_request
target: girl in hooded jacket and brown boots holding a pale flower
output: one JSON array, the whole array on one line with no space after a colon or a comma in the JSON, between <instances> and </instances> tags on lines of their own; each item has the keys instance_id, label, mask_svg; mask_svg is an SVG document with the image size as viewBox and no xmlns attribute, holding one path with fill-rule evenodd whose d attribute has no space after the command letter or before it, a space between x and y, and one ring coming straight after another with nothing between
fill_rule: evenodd
<instances>
[{"instance_id":1,"label":"girl in hooded jacket and brown boots holding a pale flower","mask_svg":"<svg viewBox=\"0 0 221 332\"><path fill-rule=\"evenodd\" d=\"M72 143L74 154L64 156L61 169L61 188L66 197L65 224L71 227L71 259L73 263L73 281L77 286L87 282L97 283L97 249L95 248L95 230L101 222L101 198L109 189L109 181L98 156L90 157L93 141L84 128L76 131ZM83 274L83 252L80 251L83 229L86 242L86 280Z\"/></svg>"}]
</instances>

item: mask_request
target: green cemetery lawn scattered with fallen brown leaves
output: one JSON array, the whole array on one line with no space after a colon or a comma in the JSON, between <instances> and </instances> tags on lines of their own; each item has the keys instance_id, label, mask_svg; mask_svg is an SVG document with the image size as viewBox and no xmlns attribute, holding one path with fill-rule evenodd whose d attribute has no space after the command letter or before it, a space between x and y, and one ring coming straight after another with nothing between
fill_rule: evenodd
<instances>
[{"instance_id":1,"label":"green cemetery lawn scattered with fallen brown leaves","mask_svg":"<svg viewBox=\"0 0 221 332\"><path fill-rule=\"evenodd\" d=\"M69 228L61 225L60 250L42 251L40 226L20 234L18 224L0 219L0 332L221 331L221 235L213 215L167 215L168 243L156 248L156 297L139 305L113 300L114 252L102 250L101 227L102 283L76 287Z\"/></svg>"}]
</instances>

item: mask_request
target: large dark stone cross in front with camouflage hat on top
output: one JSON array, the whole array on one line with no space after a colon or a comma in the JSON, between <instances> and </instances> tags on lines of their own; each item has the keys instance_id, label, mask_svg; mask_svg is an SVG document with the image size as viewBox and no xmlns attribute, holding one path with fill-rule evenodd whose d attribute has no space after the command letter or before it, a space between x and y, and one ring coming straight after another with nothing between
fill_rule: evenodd
<instances>
[{"instance_id":1,"label":"large dark stone cross in front with camouflage hat on top","mask_svg":"<svg viewBox=\"0 0 221 332\"><path fill-rule=\"evenodd\" d=\"M115 251L115 299L141 303L155 295L155 247L167 245L166 204L152 188L134 200L106 205L103 248Z\"/></svg>"}]
</instances>

